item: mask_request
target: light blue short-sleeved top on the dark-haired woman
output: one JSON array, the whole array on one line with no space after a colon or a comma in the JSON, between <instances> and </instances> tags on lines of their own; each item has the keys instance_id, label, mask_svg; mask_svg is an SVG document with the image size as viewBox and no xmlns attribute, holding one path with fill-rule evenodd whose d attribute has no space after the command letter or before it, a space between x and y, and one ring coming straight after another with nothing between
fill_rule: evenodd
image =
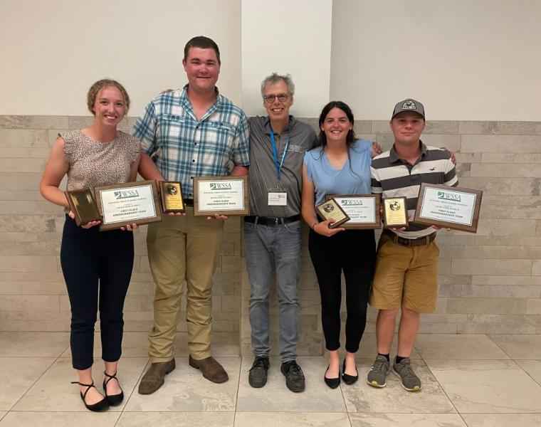
<instances>
[{"instance_id":1,"label":"light blue short-sleeved top on the dark-haired woman","mask_svg":"<svg viewBox=\"0 0 541 427\"><path fill-rule=\"evenodd\" d=\"M370 194L372 142L357 139L350 146L350 156L342 169L331 166L322 147L305 152L308 178L315 186L315 204L322 204L327 194Z\"/></svg>"}]
</instances>

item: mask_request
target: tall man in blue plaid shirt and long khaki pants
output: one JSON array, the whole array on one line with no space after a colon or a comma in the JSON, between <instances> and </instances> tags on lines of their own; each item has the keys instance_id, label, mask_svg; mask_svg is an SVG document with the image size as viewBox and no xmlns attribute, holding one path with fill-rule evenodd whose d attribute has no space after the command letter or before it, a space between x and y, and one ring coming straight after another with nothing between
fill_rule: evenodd
<instances>
[{"instance_id":1,"label":"tall man in blue plaid shirt and long khaki pants","mask_svg":"<svg viewBox=\"0 0 541 427\"><path fill-rule=\"evenodd\" d=\"M192 38L182 60L188 84L155 97L135 124L141 139L140 174L145 179L180 181L186 216L162 216L149 225L148 258L156 284L154 327L149 333L151 365L140 394L154 393L175 368L174 337L179 322L182 285L187 282L189 364L206 379L228 376L211 357L212 275L221 245L223 220L194 216L194 176L248 174L248 122L243 111L216 88L220 52L210 38ZM149 167L154 162L159 174Z\"/></svg>"}]
</instances>

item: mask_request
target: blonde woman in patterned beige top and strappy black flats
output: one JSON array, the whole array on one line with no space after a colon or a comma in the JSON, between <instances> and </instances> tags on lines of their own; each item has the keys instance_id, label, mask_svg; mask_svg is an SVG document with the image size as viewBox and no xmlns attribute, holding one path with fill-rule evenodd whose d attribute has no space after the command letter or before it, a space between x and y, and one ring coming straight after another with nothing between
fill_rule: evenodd
<instances>
[{"instance_id":1,"label":"blonde woman in patterned beige top and strappy black flats","mask_svg":"<svg viewBox=\"0 0 541 427\"><path fill-rule=\"evenodd\" d=\"M79 375L75 384L80 385L85 406L90 411L101 411L109 405L119 405L124 397L116 375L122 353L122 310L133 267L133 235L121 230L100 232L100 221L77 226L58 186L66 174L68 190L94 192L96 186L135 181L140 144L117 130L130 107L130 97L120 83L99 80L90 87L87 102L94 115L92 125L58 134L40 191L51 203L63 206L66 213L61 265L71 305L70 348L73 368ZM105 396L96 389L92 377L98 309Z\"/></svg>"}]
</instances>

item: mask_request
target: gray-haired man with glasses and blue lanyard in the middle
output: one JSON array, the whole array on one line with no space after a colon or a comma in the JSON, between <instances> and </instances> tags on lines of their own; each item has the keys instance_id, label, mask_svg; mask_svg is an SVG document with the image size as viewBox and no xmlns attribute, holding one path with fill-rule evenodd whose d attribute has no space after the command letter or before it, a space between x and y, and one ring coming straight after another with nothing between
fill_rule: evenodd
<instances>
[{"instance_id":1,"label":"gray-haired man with glasses and blue lanyard in the middle","mask_svg":"<svg viewBox=\"0 0 541 427\"><path fill-rule=\"evenodd\" d=\"M261 83L267 117L250 124L250 216L244 217L246 266L250 280L250 325L254 362L248 374L263 387L269 369L269 292L275 274L280 309L280 371L290 391L305 389L296 362L300 278L300 189L303 155L317 142L314 130L289 115L295 85L273 73ZM273 272L273 264L275 270Z\"/></svg>"}]
</instances>

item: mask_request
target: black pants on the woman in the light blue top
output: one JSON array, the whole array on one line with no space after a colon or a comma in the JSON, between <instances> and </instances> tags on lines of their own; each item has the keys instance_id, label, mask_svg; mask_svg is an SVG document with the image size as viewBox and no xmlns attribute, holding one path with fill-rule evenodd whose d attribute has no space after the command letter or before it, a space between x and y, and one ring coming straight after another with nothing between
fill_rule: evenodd
<instances>
[{"instance_id":1,"label":"black pants on the woman in the light blue top","mask_svg":"<svg viewBox=\"0 0 541 427\"><path fill-rule=\"evenodd\" d=\"M376 260L374 231L346 230L332 237L310 231L308 249L320 285L325 347L330 351L340 348L340 278L343 270L346 281L346 350L357 352L367 325L368 295Z\"/></svg>"}]
</instances>

